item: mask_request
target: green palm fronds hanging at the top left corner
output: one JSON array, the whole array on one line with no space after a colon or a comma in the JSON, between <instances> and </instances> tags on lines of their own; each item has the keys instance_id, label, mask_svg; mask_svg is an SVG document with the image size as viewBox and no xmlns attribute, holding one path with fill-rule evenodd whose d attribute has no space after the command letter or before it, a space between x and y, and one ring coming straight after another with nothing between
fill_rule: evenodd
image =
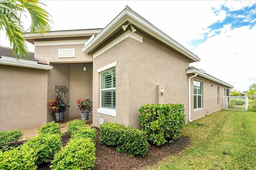
<instances>
[{"instance_id":1,"label":"green palm fronds hanging at the top left corner","mask_svg":"<svg viewBox=\"0 0 256 170\"><path fill-rule=\"evenodd\" d=\"M27 59L28 47L26 46L25 31L38 36L50 31L50 14L40 5L44 5L38 0L0 0L0 29L4 29L13 48L13 55ZM28 30L24 30L20 21L21 14L29 14L31 25ZM26 16L27 17L27 16Z\"/></svg>"}]
</instances>

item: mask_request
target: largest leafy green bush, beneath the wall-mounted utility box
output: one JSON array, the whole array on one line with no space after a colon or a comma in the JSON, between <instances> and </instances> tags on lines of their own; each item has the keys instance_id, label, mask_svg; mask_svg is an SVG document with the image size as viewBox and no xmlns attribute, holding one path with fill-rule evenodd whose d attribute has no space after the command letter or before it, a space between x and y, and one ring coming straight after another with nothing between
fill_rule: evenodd
<instances>
[{"instance_id":1,"label":"largest leafy green bush, beneath the wall-mounted utility box","mask_svg":"<svg viewBox=\"0 0 256 170\"><path fill-rule=\"evenodd\" d=\"M148 140L156 145L173 143L185 124L183 104L147 104L140 109L139 122Z\"/></svg>"}]
</instances>

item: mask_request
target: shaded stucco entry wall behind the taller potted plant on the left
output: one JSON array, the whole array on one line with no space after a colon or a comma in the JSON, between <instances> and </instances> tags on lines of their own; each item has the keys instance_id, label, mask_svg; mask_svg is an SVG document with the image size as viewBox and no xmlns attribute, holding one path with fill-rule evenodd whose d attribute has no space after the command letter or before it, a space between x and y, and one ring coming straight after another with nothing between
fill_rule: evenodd
<instances>
[{"instance_id":1,"label":"shaded stucco entry wall behind the taller potted plant on the left","mask_svg":"<svg viewBox=\"0 0 256 170\"><path fill-rule=\"evenodd\" d=\"M63 94L64 102L69 102L70 95L70 64L53 64L52 70L48 72L48 91L47 91L47 102L48 100L52 100L54 98L55 93L55 85L67 86L68 93L66 97ZM50 114L50 110L48 109L48 104L45 106L47 108L47 122L55 120L55 115ZM70 107L69 107L70 108ZM64 112L64 119L69 117L69 108Z\"/></svg>"}]
</instances>

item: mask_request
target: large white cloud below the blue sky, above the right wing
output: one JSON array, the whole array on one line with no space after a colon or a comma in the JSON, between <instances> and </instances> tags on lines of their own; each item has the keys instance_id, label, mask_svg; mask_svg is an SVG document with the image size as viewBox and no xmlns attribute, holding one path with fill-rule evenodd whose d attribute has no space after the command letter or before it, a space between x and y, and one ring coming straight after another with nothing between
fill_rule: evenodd
<instances>
[{"instance_id":1,"label":"large white cloud below the blue sky, above the right wing","mask_svg":"<svg viewBox=\"0 0 256 170\"><path fill-rule=\"evenodd\" d=\"M256 83L254 37L256 25L252 29L224 25L220 34L198 45L194 52L202 60L191 65L230 83L236 90L246 91L252 82Z\"/></svg>"}]
</instances>

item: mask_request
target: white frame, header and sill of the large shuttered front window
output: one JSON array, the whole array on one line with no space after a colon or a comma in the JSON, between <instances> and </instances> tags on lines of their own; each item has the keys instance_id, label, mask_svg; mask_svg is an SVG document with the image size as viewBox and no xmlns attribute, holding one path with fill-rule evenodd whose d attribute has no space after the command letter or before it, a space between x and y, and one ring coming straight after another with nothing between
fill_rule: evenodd
<instances>
[{"instance_id":1,"label":"white frame, header and sill of the large shuttered front window","mask_svg":"<svg viewBox=\"0 0 256 170\"><path fill-rule=\"evenodd\" d=\"M101 73L115 68L116 64L117 64L117 61L97 69L97 72L100 73L100 108L97 109L97 112L105 115L114 116L114 117L116 117L116 109L111 109L111 108L106 108L101 106L102 105Z\"/></svg>"}]
</instances>

